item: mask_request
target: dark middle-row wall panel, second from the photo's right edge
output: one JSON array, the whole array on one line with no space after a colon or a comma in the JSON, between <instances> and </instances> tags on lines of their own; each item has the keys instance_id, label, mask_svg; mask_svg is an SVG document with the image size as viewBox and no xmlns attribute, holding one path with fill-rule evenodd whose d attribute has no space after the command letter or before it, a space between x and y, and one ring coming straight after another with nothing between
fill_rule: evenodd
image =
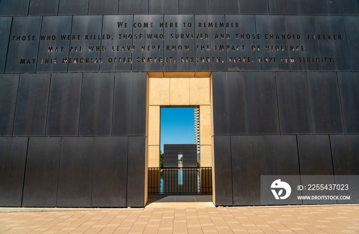
<instances>
[{"instance_id":1,"label":"dark middle-row wall panel, second from the photo's right edge","mask_svg":"<svg viewBox=\"0 0 359 234\"><path fill-rule=\"evenodd\" d=\"M308 72L307 81L313 133L344 133L336 73Z\"/></svg>"}]
</instances>

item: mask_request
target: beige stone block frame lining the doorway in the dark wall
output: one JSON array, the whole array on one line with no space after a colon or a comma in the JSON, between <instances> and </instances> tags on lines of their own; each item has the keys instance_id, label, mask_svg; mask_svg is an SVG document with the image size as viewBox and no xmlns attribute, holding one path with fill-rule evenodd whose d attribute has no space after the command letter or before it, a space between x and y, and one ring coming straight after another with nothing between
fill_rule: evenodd
<instances>
[{"instance_id":1,"label":"beige stone block frame lining the doorway in the dark wall","mask_svg":"<svg viewBox=\"0 0 359 234\"><path fill-rule=\"evenodd\" d=\"M148 72L148 167L159 167L161 108L200 108L200 164L212 166L211 72ZM194 127L194 126L193 126ZM194 131L193 131L194 134ZM194 137L194 135L193 135ZM212 186L213 182L212 173ZM214 186L213 195L214 195ZM146 188L147 190L147 188ZM147 194L146 194L147 197Z\"/></svg>"}]
</instances>

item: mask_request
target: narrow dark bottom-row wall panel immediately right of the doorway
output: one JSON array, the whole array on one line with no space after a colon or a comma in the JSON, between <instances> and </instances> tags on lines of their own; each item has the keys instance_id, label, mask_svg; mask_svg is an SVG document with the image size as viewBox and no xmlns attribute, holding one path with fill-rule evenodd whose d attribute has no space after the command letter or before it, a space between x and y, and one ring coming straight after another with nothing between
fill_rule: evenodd
<instances>
[{"instance_id":1,"label":"narrow dark bottom-row wall panel immediately right of the doorway","mask_svg":"<svg viewBox=\"0 0 359 234\"><path fill-rule=\"evenodd\" d=\"M231 136L213 136L215 205L233 205Z\"/></svg>"}]
</instances>

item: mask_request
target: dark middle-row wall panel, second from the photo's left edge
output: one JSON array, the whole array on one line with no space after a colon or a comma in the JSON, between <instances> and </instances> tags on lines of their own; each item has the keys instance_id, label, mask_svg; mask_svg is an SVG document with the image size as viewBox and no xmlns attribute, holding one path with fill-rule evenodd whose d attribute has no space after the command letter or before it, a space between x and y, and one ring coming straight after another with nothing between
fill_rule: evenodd
<instances>
[{"instance_id":1,"label":"dark middle-row wall panel, second from the photo's left edge","mask_svg":"<svg viewBox=\"0 0 359 234\"><path fill-rule=\"evenodd\" d=\"M50 74L21 74L13 136L45 136Z\"/></svg>"}]
</instances>

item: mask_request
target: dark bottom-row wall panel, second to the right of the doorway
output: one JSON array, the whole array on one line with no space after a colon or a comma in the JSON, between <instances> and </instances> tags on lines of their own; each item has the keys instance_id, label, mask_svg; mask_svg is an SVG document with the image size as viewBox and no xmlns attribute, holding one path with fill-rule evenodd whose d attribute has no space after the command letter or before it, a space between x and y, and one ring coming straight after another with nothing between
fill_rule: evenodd
<instances>
[{"instance_id":1,"label":"dark bottom-row wall panel, second to the right of the doorway","mask_svg":"<svg viewBox=\"0 0 359 234\"><path fill-rule=\"evenodd\" d=\"M233 205L261 204L266 175L264 136L231 136Z\"/></svg>"}]
</instances>

